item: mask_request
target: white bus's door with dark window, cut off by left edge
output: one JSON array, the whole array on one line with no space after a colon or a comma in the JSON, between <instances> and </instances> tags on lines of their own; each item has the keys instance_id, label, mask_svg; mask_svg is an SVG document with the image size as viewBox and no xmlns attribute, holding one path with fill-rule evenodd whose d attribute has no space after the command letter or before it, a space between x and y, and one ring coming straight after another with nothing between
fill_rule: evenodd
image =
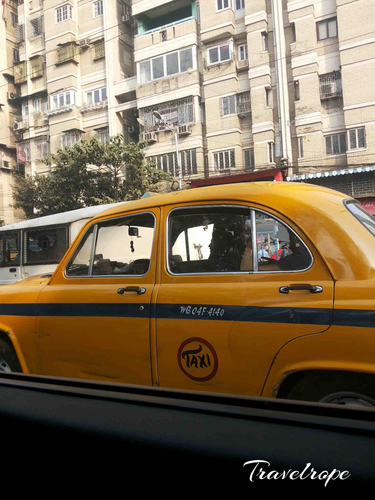
<instances>
[{"instance_id":1,"label":"white bus's door with dark window, cut off by left edge","mask_svg":"<svg viewBox=\"0 0 375 500\"><path fill-rule=\"evenodd\" d=\"M21 231L0 234L0 284L14 283L21 277Z\"/></svg>"}]
</instances>

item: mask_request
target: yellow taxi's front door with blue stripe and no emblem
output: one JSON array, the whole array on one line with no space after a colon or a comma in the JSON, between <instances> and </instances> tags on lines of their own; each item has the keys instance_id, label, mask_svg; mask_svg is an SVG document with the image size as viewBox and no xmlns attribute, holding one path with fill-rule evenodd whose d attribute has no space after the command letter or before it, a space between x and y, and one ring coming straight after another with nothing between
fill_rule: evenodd
<instances>
[{"instance_id":1,"label":"yellow taxi's front door with blue stripe and no emblem","mask_svg":"<svg viewBox=\"0 0 375 500\"><path fill-rule=\"evenodd\" d=\"M87 227L38 297L38 373L151 384L159 212Z\"/></svg>"}]
</instances>

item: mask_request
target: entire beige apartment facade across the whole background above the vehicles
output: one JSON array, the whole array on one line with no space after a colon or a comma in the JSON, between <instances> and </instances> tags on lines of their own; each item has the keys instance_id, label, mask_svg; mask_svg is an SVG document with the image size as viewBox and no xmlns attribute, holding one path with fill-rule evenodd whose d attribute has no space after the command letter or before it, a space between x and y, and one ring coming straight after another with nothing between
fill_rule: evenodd
<instances>
[{"instance_id":1,"label":"entire beige apartment facade across the whole background above the vehicles","mask_svg":"<svg viewBox=\"0 0 375 500\"><path fill-rule=\"evenodd\" d=\"M346 170L352 183L375 163L373 0L7 2L10 170L45 172L50 151L117 132L147 139L182 187Z\"/></svg>"}]
</instances>

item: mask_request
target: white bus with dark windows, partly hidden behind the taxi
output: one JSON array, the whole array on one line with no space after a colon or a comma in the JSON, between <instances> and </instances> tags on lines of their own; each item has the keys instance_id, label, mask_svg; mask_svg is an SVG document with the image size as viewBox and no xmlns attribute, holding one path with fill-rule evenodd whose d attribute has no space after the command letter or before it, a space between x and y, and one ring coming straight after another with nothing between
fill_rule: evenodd
<instances>
[{"instance_id":1,"label":"white bus with dark windows, partly hidden behind the taxi","mask_svg":"<svg viewBox=\"0 0 375 500\"><path fill-rule=\"evenodd\" d=\"M51 273L82 225L121 203L87 206L0 227L0 284Z\"/></svg>"}]
</instances>

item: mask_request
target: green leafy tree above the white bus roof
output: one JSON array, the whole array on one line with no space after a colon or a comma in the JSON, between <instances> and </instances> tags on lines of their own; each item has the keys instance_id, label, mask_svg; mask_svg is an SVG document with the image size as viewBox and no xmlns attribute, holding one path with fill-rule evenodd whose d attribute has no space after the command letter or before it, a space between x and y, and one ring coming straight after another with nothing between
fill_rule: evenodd
<instances>
[{"instance_id":1,"label":"green leafy tree above the white bus roof","mask_svg":"<svg viewBox=\"0 0 375 500\"><path fill-rule=\"evenodd\" d=\"M13 186L14 207L27 218L49 215L83 206L140 198L157 191L168 172L146 161L146 142L124 143L121 134L107 144L95 138L58 149L44 159L52 167L45 175L25 175Z\"/></svg>"}]
</instances>

